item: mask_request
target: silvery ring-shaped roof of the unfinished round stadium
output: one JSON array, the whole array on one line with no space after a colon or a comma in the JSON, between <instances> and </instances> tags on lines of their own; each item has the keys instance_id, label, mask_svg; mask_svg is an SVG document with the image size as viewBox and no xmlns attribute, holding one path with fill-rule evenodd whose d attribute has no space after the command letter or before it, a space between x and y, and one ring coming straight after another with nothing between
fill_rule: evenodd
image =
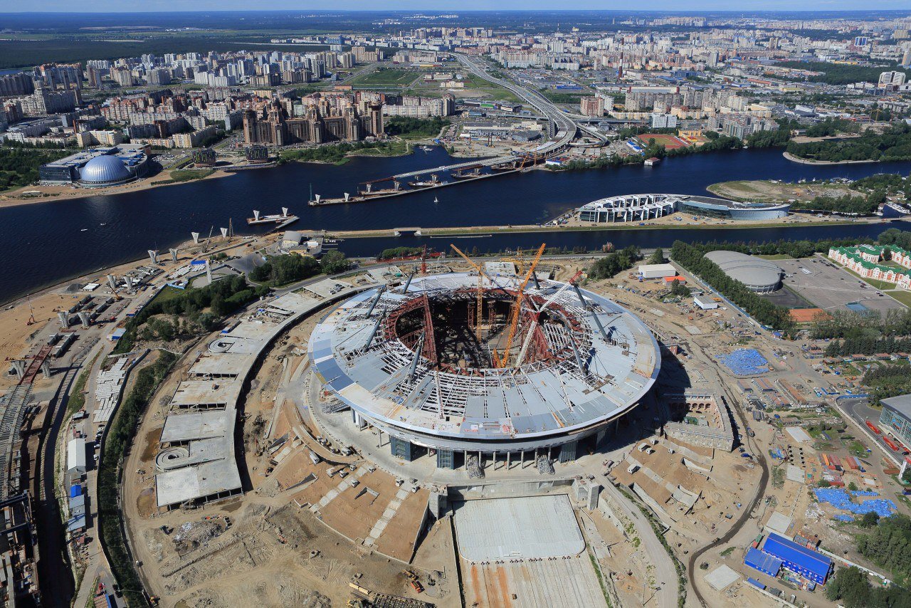
<instances>
[{"instance_id":1,"label":"silvery ring-shaped roof of the unfinished round stadium","mask_svg":"<svg viewBox=\"0 0 911 608\"><path fill-rule=\"evenodd\" d=\"M518 280L500 276L494 281L484 280L491 298L501 292L510 294ZM477 275L468 273L415 278L407 294L397 288L354 296L314 328L310 356L326 386L344 403L395 427L435 436L542 438L587 428L632 407L649 390L660 368L658 344L649 328L607 298L584 292L587 310L572 289L561 290L564 283L539 283L540 288L527 288L527 296L537 304L554 298L548 309L553 322L539 325L546 340L542 356L527 356L520 366L486 366L464 351L458 351L464 357L461 360L443 363L441 358L441 365L435 366L425 347L411 374L419 327L399 335L402 323L395 319L404 318L403 310L418 310L425 295L434 303L433 314L437 314L437 302L454 302L451 310L464 319L465 308L473 307L469 302L474 302L477 287ZM513 297L503 301L508 304ZM374 300L376 312L368 317ZM488 304L492 307L496 302ZM378 326L379 314L385 317ZM608 341L600 335L595 315ZM415 323L424 321L415 319ZM465 325L463 320L463 333ZM377 332L367 348L374 327ZM435 327L434 332L447 330L458 334L460 328ZM573 340L582 368L573 353ZM490 348L482 345L480 350L486 347ZM477 355L483 357L485 352Z\"/></svg>"}]
</instances>

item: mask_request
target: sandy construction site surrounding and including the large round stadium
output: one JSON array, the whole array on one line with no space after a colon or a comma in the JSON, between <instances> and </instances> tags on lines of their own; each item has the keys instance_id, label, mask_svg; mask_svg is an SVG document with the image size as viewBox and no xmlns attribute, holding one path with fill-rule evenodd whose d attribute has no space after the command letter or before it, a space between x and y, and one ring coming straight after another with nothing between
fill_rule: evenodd
<instances>
[{"instance_id":1,"label":"sandy construction site surrounding and including the large round stadium","mask_svg":"<svg viewBox=\"0 0 911 608\"><path fill-rule=\"evenodd\" d=\"M770 605L724 543L748 545L775 513L778 529L790 517L825 535L799 488L824 467L756 417L813 406L803 364L753 338L763 366L732 367L756 335L736 311L670 297L660 278L587 280L588 260L542 251L317 277L189 349L125 464L148 593L200 607ZM767 444L805 469L782 483Z\"/></svg>"}]
</instances>

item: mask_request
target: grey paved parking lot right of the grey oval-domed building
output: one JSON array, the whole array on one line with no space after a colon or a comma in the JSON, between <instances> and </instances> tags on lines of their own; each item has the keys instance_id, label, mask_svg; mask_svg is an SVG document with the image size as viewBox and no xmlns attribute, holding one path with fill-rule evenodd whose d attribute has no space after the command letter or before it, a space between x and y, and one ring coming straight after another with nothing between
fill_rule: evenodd
<instances>
[{"instance_id":1,"label":"grey paved parking lot right of the grey oval-domed building","mask_svg":"<svg viewBox=\"0 0 911 608\"><path fill-rule=\"evenodd\" d=\"M905 308L893 298L822 257L775 260L785 273L783 283L824 311L867 310L885 313ZM805 273L801 269L805 269ZM848 307L846 304L860 304ZM859 310L857 310L859 309Z\"/></svg>"}]
</instances>

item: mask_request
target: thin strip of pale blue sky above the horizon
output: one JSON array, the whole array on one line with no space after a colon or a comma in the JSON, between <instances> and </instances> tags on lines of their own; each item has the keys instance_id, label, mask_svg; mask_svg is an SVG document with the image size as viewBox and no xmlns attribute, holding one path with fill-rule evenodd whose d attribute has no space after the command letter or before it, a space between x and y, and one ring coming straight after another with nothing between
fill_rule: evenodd
<instances>
[{"instance_id":1,"label":"thin strip of pale blue sky above the horizon","mask_svg":"<svg viewBox=\"0 0 911 608\"><path fill-rule=\"evenodd\" d=\"M659 10L659 11L836 11L836 10L905 10L911 13L908 0L573 0L559 3L554 0L0 0L0 13L5 12L168 12L208 10Z\"/></svg>"}]
</instances>

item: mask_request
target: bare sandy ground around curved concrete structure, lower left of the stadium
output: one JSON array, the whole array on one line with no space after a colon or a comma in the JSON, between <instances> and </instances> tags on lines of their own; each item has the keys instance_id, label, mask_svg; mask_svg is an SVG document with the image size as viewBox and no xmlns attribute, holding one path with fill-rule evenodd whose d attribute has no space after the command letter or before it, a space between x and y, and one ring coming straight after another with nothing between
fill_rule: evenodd
<instances>
[{"instance_id":1,"label":"bare sandy ground around curved concrete structure, lower left of the stadium","mask_svg":"<svg viewBox=\"0 0 911 608\"><path fill-rule=\"evenodd\" d=\"M124 492L128 527L137 558L143 562L143 578L163 605L343 606L351 598L348 582L439 606L458 605L455 562L445 557L446 551L453 555L454 544L445 531L432 529L419 547L422 557L413 565L407 563L426 506L426 490L407 494L378 539L378 551L402 561L333 531L335 527L351 539L363 539L396 495L392 476L364 471L357 488L347 489L317 512L308 508L342 480L337 474L329 476L337 465L324 459L313 464L307 456L312 449L336 458L304 428L295 405L300 389L291 388L296 386L295 378L304 375L306 338L314 323L315 319L305 320L277 341L243 397L239 424L253 489L242 497L196 510L157 510L154 458L163 411L180 372L189 363L183 362L155 397L126 465L137 475ZM299 439L299 433L306 439ZM284 435L294 449L276 464L276 455L265 448ZM316 479L302 484L311 473ZM358 490L365 487L374 489L379 497L357 497ZM368 504L371 500L373 505ZM441 554L438 549L445 551ZM403 573L406 568L418 572L425 593L418 596L410 589ZM435 579L435 585L427 584L429 578Z\"/></svg>"}]
</instances>

